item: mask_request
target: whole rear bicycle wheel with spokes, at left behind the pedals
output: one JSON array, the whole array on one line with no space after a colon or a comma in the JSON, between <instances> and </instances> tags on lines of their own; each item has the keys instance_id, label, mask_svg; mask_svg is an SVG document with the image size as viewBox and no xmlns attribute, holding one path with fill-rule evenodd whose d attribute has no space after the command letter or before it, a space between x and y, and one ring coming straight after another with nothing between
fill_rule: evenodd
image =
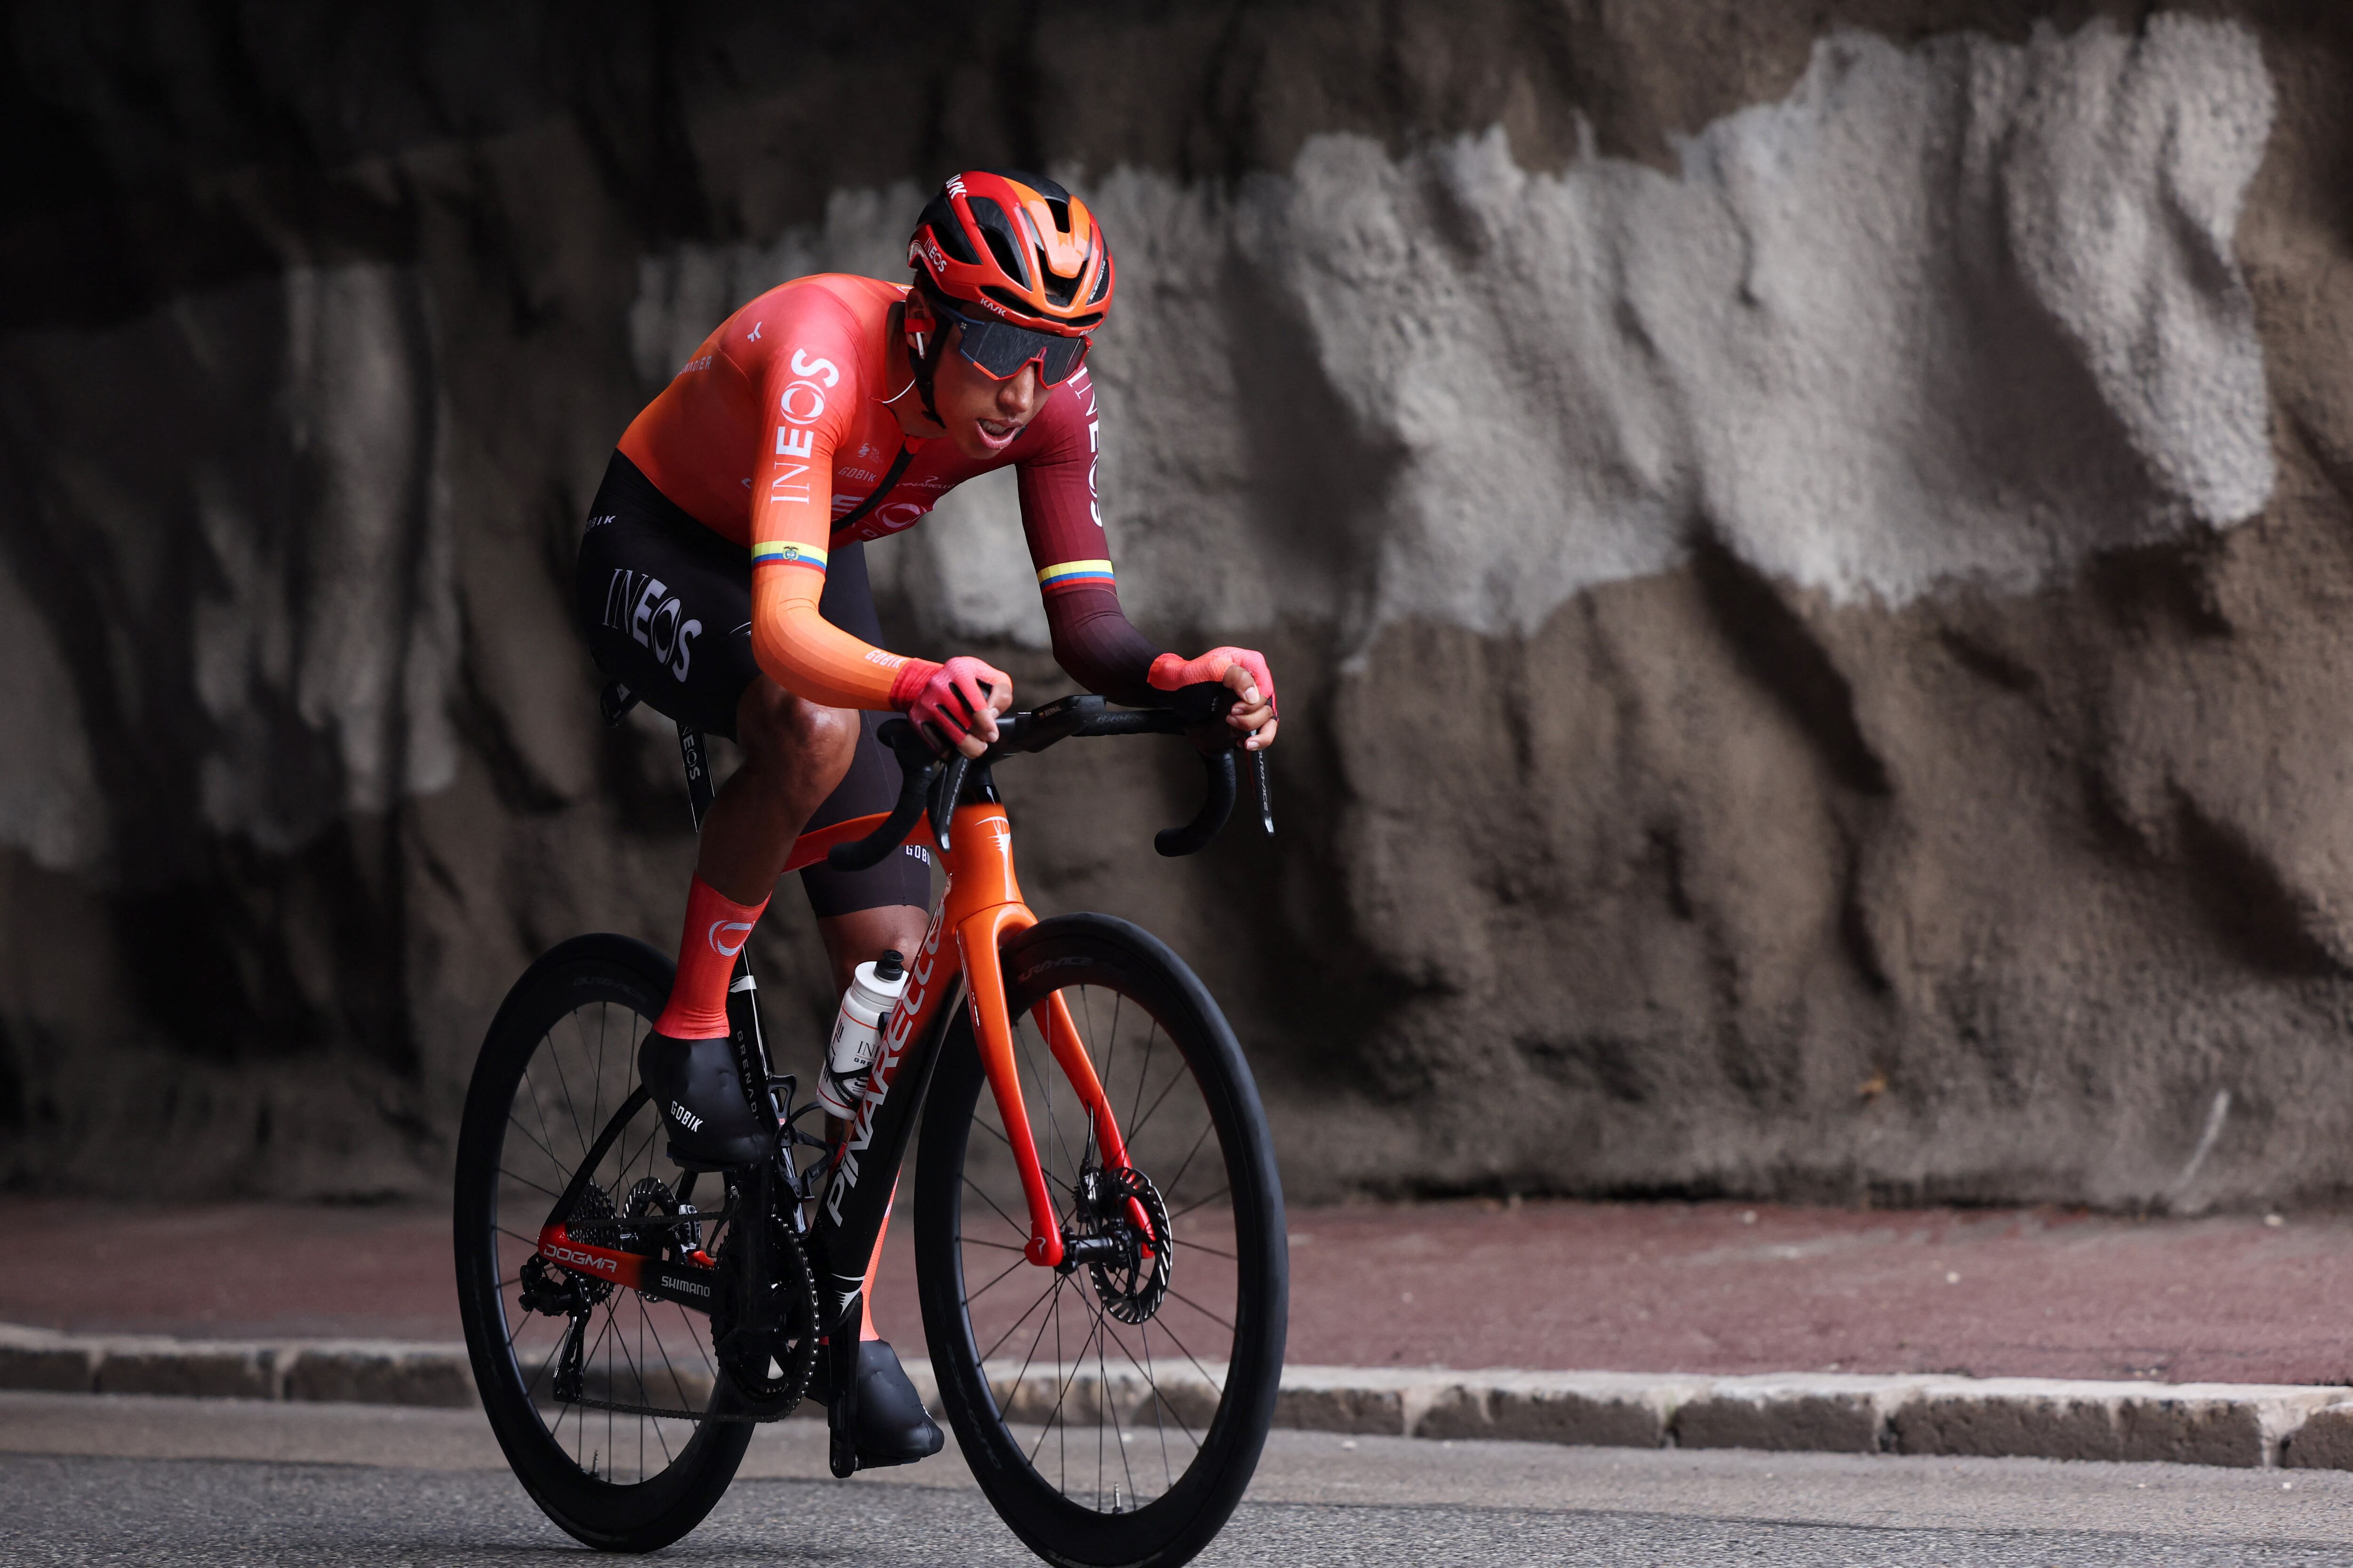
<instances>
[{"instance_id":1,"label":"whole rear bicycle wheel with spokes, at left behind the pedals","mask_svg":"<svg viewBox=\"0 0 2353 1568\"><path fill-rule=\"evenodd\" d=\"M482 1410L548 1519L607 1552L652 1552L701 1523L751 1443L751 1425L711 1420L711 1319L536 1255L539 1227L631 1103L638 1041L668 990L671 961L645 943L584 936L548 952L489 1025L459 1133L459 1314ZM718 1178L694 1192L666 1150L640 1100L595 1157L572 1234L720 1253L708 1225L654 1222L682 1201L725 1208ZM551 1293L574 1309L544 1309Z\"/></svg>"}]
</instances>

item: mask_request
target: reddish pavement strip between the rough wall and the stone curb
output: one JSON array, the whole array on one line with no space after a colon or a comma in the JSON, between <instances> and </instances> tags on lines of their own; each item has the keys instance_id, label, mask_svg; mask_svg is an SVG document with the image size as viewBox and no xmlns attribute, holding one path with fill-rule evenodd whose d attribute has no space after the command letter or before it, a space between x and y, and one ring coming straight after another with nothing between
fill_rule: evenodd
<instances>
[{"instance_id":1,"label":"reddish pavement strip between the rough wall and the stone curb","mask_svg":"<svg viewBox=\"0 0 2353 1568\"><path fill-rule=\"evenodd\" d=\"M0 1321L459 1338L447 1211L0 1199ZM1294 1363L2353 1380L2353 1218L1419 1204L1292 1213ZM922 1342L906 1227L878 1316Z\"/></svg>"}]
</instances>

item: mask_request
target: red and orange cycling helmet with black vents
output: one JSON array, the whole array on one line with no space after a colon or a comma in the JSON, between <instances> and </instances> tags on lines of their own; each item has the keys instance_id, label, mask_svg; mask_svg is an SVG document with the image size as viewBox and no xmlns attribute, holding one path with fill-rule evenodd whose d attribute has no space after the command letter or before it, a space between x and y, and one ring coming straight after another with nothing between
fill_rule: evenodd
<instances>
[{"instance_id":1,"label":"red and orange cycling helmet with black vents","mask_svg":"<svg viewBox=\"0 0 2353 1568\"><path fill-rule=\"evenodd\" d=\"M1111 313L1111 247L1075 195L1019 169L951 174L906 247L960 317L1078 339Z\"/></svg>"}]
</instances>

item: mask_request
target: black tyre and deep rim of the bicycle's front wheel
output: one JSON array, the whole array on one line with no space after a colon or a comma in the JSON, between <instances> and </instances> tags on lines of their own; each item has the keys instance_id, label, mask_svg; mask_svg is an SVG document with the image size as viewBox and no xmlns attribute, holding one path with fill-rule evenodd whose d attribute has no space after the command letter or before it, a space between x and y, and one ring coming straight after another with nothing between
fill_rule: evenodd
<instances>
[{"instance_id":1,"label":"black tyre and deep rim of the bicycle's front wheel","mask_svg":"<svg viewBox=\"0 0 2353 1568\"><path fill-rule=\"evenodd\" d=\"M974 1328L974 1302L993 1291L1000 1279L1021 1274L1026 1265L1019 1260L1016 1237L976 1237L988 1227L998 1227L1000 1220L1014 1232L1026 1232L1026 1213L1019 1208L1019 1201L1005 1206L993 1197L991 1187L1005 1180L1002 1171L988 1171L993 1145L984 1140L979 1145L984 1154L974 1154L974 1128L984 1128L998 1138L1002 1138L1002 1131L991 1126L995 1119L995 1098L986 1093L986 1074L974 1048L969 1013L960 1013L944 1041L936 1077L932 1079L922 1117L920 1159L915 1164L918 1295L922 1298L925 1335L932 1349L932 1371L939 1378L941 1406L955 1427L958 1443L981 1490L1014 1535L1042 1559L1085 1568L1172 1568L1209 1544L1242 1500L1242 1490L1249 1486L1266 1443L1266 1429L1273 1422L1275 1394L1282 1378L1289 1253L1285 1244L1282 1182L1275 1168L1273 1140L1266 1131L1266 1112L1259 1105L1259 1091L1242 1060L1242 1048L1235 1044L1233 1030L1226 1025L1224 1013L1219 1013L1217 1001L1174 952L1139 926L1104 914L1064 914L1009 940L1000 961L1009 1013L1016 1020L1016 1048L1031 1065L1042 1056L1040 1037L1031 1034L1024 1039L1024 1032L1033 1030L1028 1020L1031 1009L1049 992L1064 992L1071 1001L1073 1020L1089 1037L1089 1056L1104 1079L1113 1110L1127 1119L1122 1135L1129 1145L1134 1168L1151 1175L1151 1168L1158 1164L1160 1175L1155 1180L1169 1182L1162 1213L1176 1215L1169 1225L1174 1251L1169 1253L1169 1274L1162 1279L1167 1298L1141 1324L1106 1312L1113 1298L1104 1293L1106 1286L1092 1274L1092 1265L1073 1274L1056 1272L1054 1284L1047 1286L1054 1305L1045 1314L1054 1316L1056 1335L1061 1335L1066 1295L1075 1298L1094 1319L1089 1328L1094 1335L1094 1382L1092 1394L1071 1406L1078 1415L1066 1410L1066 1396L1085 1375L1085 1340L1078 1345L1075 1363L1066 1363L1061 1349L1054 1352L1056 1371L1052 1378L1061 1380L1061 1394L1052 1408L1042 1406L1047 1385L1031 1380L1026 1371L1035 1366L1038 1345L1042 1345L1042 1319L1024 1371L1014 1371L1007 1363L991 1371L988 1359L993 1352L984 1349ZM1108 1051L1101 1039L1104 1009L1096 1004L1099 992L1111 992L1118 999L1111 1006ZM1080 1018L1082 1004L1085 1018ZM1158 1032L1176 1046L1181 1063L1167 1077L1167 1086L1155 1091L1158 1098L1148 1100L1148 1107L1146 1088L1158 1077L1153 1067L1155 1046L1151 1041L1158 1034L1146 1037L1141 1063L1134 1048L1122 1058L1120 1013L1127 1006L1141 1009L1151 1018ZM1031 1041L1035 1041L1035 1051ZM1127 1070L1132 1065L1136 1067L1134 1114L1127 1110ZM1176 1126L1174 1138L1162 1140L1153 1119L1167 1112L1174 1091L1186 1079L1200 1091L1205 1126L1193 1138L1195 1154L1186 1157L1179 1166L1172 1157L1160 1157L1160 1150L1181 1147L1186 1128ZM1035 1095L1033 1088L1040 1084L1045 1093ZM1066 1084L1064 1091L1068 1091ZM1080 1152L1071 1145L1071 1138L1064 1138L1052 1077L1038 1084L1024 1077L1024 1100L1028 1103L1033 1135L1040 1143L1049 1182L1056 1187L1056 1208L1071 1220L1075 1187L1066 1178L1073 1166L1085 1168L1094 1159L1092 1131L1080 1138L1080 1145L1089 1152ZM1217 1135L1219 1145L1221 1159L1217 1166L1202 1154L1209 1133ZM1073 1138L1078 1138L1075 1128ZM1009 1145L993 1164L1009 1168ZM1219 1194L1195 1199L1195 1190L1214 1180L1217 1173L1226 1182L1224 1201L1233 1225L1231 1319L1217 1319L1214 1307L1202 1307L1200 1300L1186 1295L1186 1286L1191 1286L1198 1295L1224 1300L1226 1286L1219 1281L1228 1269L1214 1260L1228 1258L1228 1253L1212 1246L1212 1241L1224 1237L1217 1225L1224 1222L1221 1215L1226 1211L1214 1208ZM1191 1187L1186 1178L1195 1178ZM969 1206L974 1215L972 1234L967 1234L965 1222L967 1192L976 1192L988 1204L986 1208L981 1204ZM1212 1206L1209 1215L1200 1215L1205 1206ZM988 1213L991 1208L995 1213ZM976 1251L995 1246L1009 1246L1012 1251ZM986 1258L991 1265L998 1258L1012 1258L1012 1262L1002 1274L991 1267L993 1279L974 1291L967 1288L967 1260L974 1258ZM1188 1267L1193 1269L1191 1276L1184 1274ZM1045 1274L1045 1269L1028 1269L1031 1279L1038 1274ZM1066 1288L1068 1281L1080 1284ZM1176 1307L1172 1302L1179 1300L1202 1312L1209 1321L1228 1324L1231 1345L1221 1378L1209 1373L1193 1347L1176 1338ZM1136 1312L1139 1307L1129 1302L1127 1309ZM1002 1309L995 1312L1002 1316ZM1019 1333L1026 1321L1016 1321L1007 1333ZM1179 1375L1176 1356L1167 1354L1169 1382L1162 1382L1162 1361L1155 1359L1153 1349L1155 1326L1162 1331L1165 1342L1174 1342L1174 1349L1184 1352L1184 1359L1191 1361L1191 1373L1200 1373L1200 1378L1186 1380ZM995 1319L991 1319L988 1328L991 1333L998 1328ZM1005 1335L993 1338L998 1338L998 1345L1007 1342ZM1113 1347L1118 1347L1120 1361L1111 1359ZM1064 1366L1080 1371L1071 1371L1064 1378ZM1012 1401L1012 1415L1000 1408L1000 1392ZM1212 1394L1214 1408L1207 1408L1202 1401ZM1122 1418L1122 1406L1127 1408L1127 1418ZM1078 1432L1080 1443L1085 1443L1087 1427L1078 1425L1078 1418L1087 1408L1092 1408L1094 1418L1096 1474L1092 1490L1085 1488L1082 1479L1073 1493L1068 1483L1068 1439ZM1184 1415L1191 1410L1193 1418L1202 1418L1205 1408L1207 1415L1195 1432L1193 1422L1184 1420ZM1024 1422L1021 1418L1035 1420ZM1026 1441L1024 1434L1014 1432L1016 1425L1038 1425L1040 1436ZM1181 1474L1176 1474L1167 1448L1172 1427L1181 1427L1181 1436L1195 1441ZM1040 1465L1045 1441L1056 1429L1064 1441L1061 1479L1052 1479L1047 1467ZM1134 1467L1141 1460L1146 1472L1151 1469L1151 1443L1155 1436L1165 1488L1146 1502L1144 1495L1151 1476L1146 1474L1139 1481ZM1122 1488L1115 1474L1108 1476L1106 1497L1106 1450L1120 1455L1127 1500L1136 1502L1136 1507L1122 1507ZM1085 1460L1085 1455L1080 1458ZM1106 1500L1108 1509L1104 1507Z\"/></svg>"}]
</instances>

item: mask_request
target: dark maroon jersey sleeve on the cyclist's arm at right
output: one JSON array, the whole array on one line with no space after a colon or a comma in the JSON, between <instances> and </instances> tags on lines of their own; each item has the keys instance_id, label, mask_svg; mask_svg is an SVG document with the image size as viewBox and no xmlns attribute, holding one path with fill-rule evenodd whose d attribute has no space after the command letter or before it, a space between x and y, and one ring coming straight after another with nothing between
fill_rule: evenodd
<instances>
[{"instance_id":1,"label":"dark maroon jersey sleeve on the cyclist's arm at right","mask_svg":"<svg viewBox=\"0 0 2353 1568\"><path fill-rule=\"evenodd\" d=\"M1035 456L1024 458L1016 484L1021 534L1028 538L1047 630L1054 635L1054 663L1113 703L1158 708L1162 696L1146 684L1146 675L1160 649L1120 609L1120 583L1094 494L1101 421L1092 378L1080 371L1056 388L1042 418L1047 416L1047 440Z\"/></svg>"}]
</instances>

